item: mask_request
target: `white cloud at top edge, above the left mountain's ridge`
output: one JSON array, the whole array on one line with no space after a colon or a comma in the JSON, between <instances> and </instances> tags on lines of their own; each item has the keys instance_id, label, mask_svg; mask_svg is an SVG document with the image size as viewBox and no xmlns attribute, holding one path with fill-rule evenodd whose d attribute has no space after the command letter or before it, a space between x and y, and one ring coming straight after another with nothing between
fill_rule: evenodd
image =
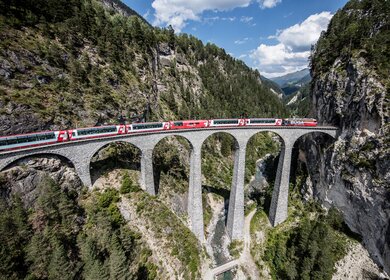
<instances>
[{"instance_id":1,"label":"white cloud at top edge, above the left mountain's ridge","mask_svg":"<svg viewBox=\"0 0 390 280\"><path fill-rule=\"evenodd\" d=\"M238 7L247 7L252 0L154 0L156 25L170 24L180 32L188 20L200 20L200 14L206 10L227 11ZM231 20L231 18L227 18Z\"/></svg>"}]
</instances>

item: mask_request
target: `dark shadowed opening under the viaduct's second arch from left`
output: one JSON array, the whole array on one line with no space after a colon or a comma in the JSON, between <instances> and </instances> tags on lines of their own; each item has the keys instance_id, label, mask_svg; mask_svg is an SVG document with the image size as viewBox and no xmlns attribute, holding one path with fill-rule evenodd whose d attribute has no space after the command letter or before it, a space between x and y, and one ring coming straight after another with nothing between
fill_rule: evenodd
<instances>
[{"instance_id":1,"label":"dark shadowed opening under the viaduct's second arch from left","mask_svg":"<svg viewBox=\"0 0 390 280\"><path fill-rule=\"evenodd\" d=\"M131 141L126 141L126 139L99 143L88 155L86 161L91 183L94 184L103 173L111 172L114 168L139 171L140 158L141 149ZM136 176L136 174L132 175Z\"/></svg>"}]
</instances>

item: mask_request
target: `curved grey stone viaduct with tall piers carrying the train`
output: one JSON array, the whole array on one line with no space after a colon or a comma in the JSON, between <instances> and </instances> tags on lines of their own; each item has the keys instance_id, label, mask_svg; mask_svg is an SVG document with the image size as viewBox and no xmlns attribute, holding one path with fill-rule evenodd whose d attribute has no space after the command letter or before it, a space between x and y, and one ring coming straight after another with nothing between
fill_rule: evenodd
<instances>
[{"instance_id":1,"label":"curved grey stone viaduct with tall piers carrying the train","mask_svg":"<svg viewBox=\"0 0 390 280\"><path fill-rule=\"evenodd\" d=\"M126 134L77 142L64 142L51 146L41 146L20 151L0 154L0 171L19 159L44 154L54 154L67 158L85 186L92 185L90 162L92 157L103 147L113 142L127 142L141 151L140 185L150 195L155 195L153 178L153 149L157 143L168 136L182 136L191 144L190 176L188 191L188 218L192 232L204 242L203 206L202 206L202 171L201 148L203 142L212 134L225 132L235 139L235 157L233 182L230 192L227 231L230 238L242 239L244 230L244 176L245 151L249 139L259 132L274 132L280 136L282 150L280 154L275 186L272 194L270 221L273 226L287 218L288 190L291 154L294 143L301 136L322 132L336 137L334 127L241 127L198 130L168 130L154 133Z\"/></svg>"}]
</instances>

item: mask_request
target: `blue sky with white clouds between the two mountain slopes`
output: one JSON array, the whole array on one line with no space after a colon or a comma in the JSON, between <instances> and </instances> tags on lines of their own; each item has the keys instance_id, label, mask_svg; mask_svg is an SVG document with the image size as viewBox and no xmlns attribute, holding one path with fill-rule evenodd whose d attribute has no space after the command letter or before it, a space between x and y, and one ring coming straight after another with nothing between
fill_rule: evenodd
<instances>
[{"instance_id":1,"label":"blue sky with white clouds between the two mountain slopes","mask_svg":"<svg viewBox=\"0 0 390 280\"><path fill-rule=\"evenodd\" d=\"M347 0L122 0L154 26L172 25L277 77L308 66L311 45Z\"/></svg>"}]
</instances>

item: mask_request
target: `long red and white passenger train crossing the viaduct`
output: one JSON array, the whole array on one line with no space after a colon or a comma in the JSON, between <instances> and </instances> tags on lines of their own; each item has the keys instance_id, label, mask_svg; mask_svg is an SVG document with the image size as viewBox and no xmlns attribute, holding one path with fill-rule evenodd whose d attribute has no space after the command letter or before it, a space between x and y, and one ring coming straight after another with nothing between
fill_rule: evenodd
<instances>
[{"instance_id":1,"label":"long red and white passenger train crossing the viaduct","mask_svg":"<svg viewBox=\"0 0 390 280\"><path fill-rule=\"evenodd\" d=\"M182 120L168 122L134 123L122 125L108 125L98 127L77 128L58 131L44 131L0 137L0 151L56 144L66 141L109 137L122 134L136 134L141 132L155 132L179 129L205 129L217 127L256 127L256 126L317 126L317 120L308 118L276 119L276 118L248 118L248 119L212 119L212 120Z\"/></svg>"}]
</instances>

